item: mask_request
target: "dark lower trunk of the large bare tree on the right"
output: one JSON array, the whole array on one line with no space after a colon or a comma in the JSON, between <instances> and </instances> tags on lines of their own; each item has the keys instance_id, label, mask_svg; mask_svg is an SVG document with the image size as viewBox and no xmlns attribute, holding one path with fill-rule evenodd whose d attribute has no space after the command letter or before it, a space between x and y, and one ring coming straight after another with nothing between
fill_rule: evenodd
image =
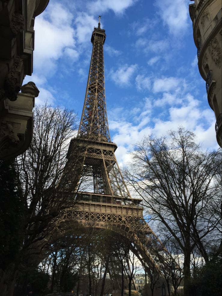
<instances>
[{"instance_id":1,"label":"dark lower trunk of the large bare tree on the right","mask_svg":"<svg viewBox=\"0 0 222 296\"><path fill-rule=\"evenodd\" d=\"M184 296L190 295L190 254L190 240L188 239L184 249Z\"/></svg>"}]
</instances>

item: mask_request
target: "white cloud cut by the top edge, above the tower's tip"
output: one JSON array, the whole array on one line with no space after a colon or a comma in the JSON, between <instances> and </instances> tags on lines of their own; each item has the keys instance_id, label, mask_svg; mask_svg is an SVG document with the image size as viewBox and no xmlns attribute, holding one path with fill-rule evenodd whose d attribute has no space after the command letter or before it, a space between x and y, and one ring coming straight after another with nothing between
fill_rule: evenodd
<instances>
[{"instance_id":1,"label":"white cloud cut by the top edge, above the tower's tip","mask_svg":"<svg viewBox=\"0 0 222 296\"><path fill-rule=\"evenodd\" d=\"M96 0L88 2L86 6L93 14L104 13L108 10L113 10L115 14L122 14L136 2L137 0Z\"/></svg>"}]
</instances>

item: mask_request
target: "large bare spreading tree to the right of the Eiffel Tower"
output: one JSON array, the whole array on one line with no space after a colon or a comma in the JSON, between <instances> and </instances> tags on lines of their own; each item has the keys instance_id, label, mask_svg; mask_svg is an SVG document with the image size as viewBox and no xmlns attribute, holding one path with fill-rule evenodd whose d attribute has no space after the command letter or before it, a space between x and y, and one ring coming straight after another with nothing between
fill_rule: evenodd
<instances>
[{"instance_id":1,"label":"large bare spreading tree to the right of the Eiffel Tower","mask_svg":"<svg viewBox=\"0 0 222 296\"><path fill-rule=\"evenodd\" d=\"M195 135L179 128L170 131L169 138L145 137L132 156L127 179L151 219L160 221L181 248L188 296L191 252L197 246L208 261L206 242L221 223L221 153L202 151Z\"/></svg>"}]
</instances>

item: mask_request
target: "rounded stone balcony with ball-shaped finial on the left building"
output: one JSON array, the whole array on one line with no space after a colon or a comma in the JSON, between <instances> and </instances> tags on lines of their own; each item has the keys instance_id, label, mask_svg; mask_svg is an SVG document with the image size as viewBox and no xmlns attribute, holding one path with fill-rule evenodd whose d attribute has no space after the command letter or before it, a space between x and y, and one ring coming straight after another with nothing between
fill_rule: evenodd
<instances>
[{"instance_id":1,"label":"rounded stone balcony with ball-shaped finial on the left building","mask_svg":"<svg viewBox=\"0 0 222 296\"><path fill-rule=\"evenodd\" d=\"M35 83L22 86L16 101L0 103L0 158L7 160L22 154L30 145L33 133L33 107L38 96Z\"/></svg>"}]
</instances>

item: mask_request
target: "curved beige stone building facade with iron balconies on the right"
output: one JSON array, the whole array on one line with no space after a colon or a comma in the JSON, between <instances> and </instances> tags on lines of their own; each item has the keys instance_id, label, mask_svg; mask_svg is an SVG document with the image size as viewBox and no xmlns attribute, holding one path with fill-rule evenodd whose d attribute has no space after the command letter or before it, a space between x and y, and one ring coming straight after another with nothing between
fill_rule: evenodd
<instances>
[{"instance_id":1,"label":"curved beige stone building facade with iron balconies on the right","mask_svg":"<svg viewBox=\"0 0 222 296\"><path fill-rule=\"evenodd\" d=\"M198 67L206 81L208 103L214 111L217 142L222 146L221 0L195 0L189 5Z\"/></svg>"}]
</instances>

